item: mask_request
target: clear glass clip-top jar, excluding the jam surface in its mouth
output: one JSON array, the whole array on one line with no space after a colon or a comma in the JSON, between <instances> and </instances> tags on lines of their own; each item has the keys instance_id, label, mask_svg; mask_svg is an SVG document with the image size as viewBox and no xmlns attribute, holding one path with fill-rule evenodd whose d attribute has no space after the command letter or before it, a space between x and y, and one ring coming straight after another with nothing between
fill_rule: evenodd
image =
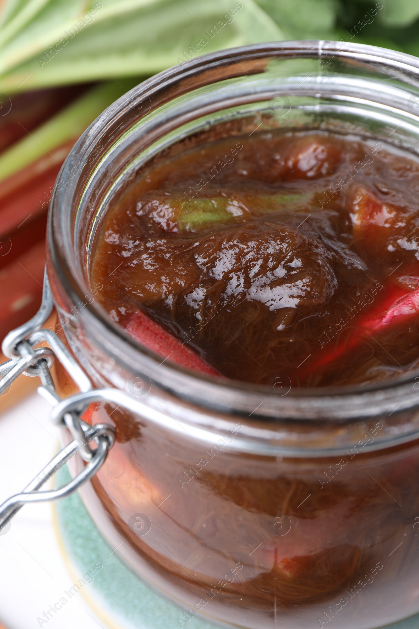
<instances>
[{"instance_id":1,"label":"clear glass clip-top jar, excluding the jam surface in its mouth","mask_svg":"<svg viewBox=\"0 0 419 629\"><path fill-rule=\"evenodd\" d=\"M135 412L87 411L116 426L117 443L85 505L115 552L183 607L181 627L202 615L249 629L367 629L419 611L419 376L308 390L285 373L268 388L162 362L90 285L111 200L161 154L254 131L333 131L415 157L418 111L414 57L253 45L148 79L63 165L48 227L57 329L95 386L135 401ZM75 390L61 369L58 382Z\"/></svg>"}]
</instances>

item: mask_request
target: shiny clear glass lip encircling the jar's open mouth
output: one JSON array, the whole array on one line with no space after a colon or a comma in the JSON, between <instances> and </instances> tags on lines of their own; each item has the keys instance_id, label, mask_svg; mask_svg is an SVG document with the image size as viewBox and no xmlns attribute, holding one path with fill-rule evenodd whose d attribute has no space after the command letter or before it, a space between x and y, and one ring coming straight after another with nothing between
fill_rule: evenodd
<instances>
[{"instance_id":1,"label":"shiny clear glass lip encircling the jar's open mouth","mask_svg":"<svg viewBox=\"0 0 419 629\"><path fill-rule=\"evenodd\" d=\"M220 69L222 65L231 65L236 62L240 65L246 58L255 60L258 58L321 58L328 55L334 55L336 57L345 57L358 62L366 62L372 65L387 66L389 68L400 70L405 76L411 77L412 82L415 81L419 85L419 59L408 55L406 53L398 52L395 50L389 50L387 48L379 48L371 45L364 45L351 42L335 42L325 40L292 40L288 42L269 42L261 44L253 44L237 48L229 48L227 50L219 50L217 52L201 55L196 58L192 58L183 64L176 65L167 70L163 70L156 75L153 75L150 79L142 82L138 86L131 89L131 91L124 94L109 106L102 114L100 114L96 120L89 126L89 128L80 136L78 142L73 147L72 151L65 160L60 173L58 174L55 187L53 189L52 199L50 203L50 210L48 216L48 267L52 268L57 274L58 280L61 282L66 294L74 301L74 299L83 299L85 292L89 292L89 286L87 286L84 278L80 276L77 270L77 264L75 256L68 254L68 248L61 247L61 243L57 240L56 226L58 223L63 225L62 221L58 220L54 223L54 219L59 215L65 213L65 208L68 208L68 200L70 199L70 193L73 192L74 198L75 186L77 184L77 175L80 174L80 159L86 157L89 154L89 147L94 145L95 136L104 128L111 125L119 114L126 109L129 103L133 101L143 103L144 99L150 99L158 91L161 91L162 86L165 86L166 91L170 90L173 84L181 80L193 78L200 72L205 72L210 69ZM248 74L245 69L242 68L241 74ZM237 75L239 73L237 72ZM217 78L217 81L222 80L221 77ZM207 81L210 84L211 81ZM192 87L191 89L194 89ZM151 109L151 107L150 107ZM150 111L150 110L149 110ZM71 185L68 185L71 184ZM61 186L61 187L60 187ZM73 201L73 198L72 198ZM66 203L67 202L67 203ZM102 338L107 337L107 350L112 353L112 350L116 350L116 344L118 345L117 355L119 359L124 360L122 353L125 353L125 358L129 360L126 364L136 364L139 370L144 370L144 357L148 365L153 363L161 363L161 359L158 355L154 354L148 348L141 347L137 342L129 337L124 330L114 323L109 316L97 306L95 303L86 303L85 307L79 313L80 318L85 322L89 321L90 324L97 324L101 328ZM99 329L98 328L98 329ZM278 396L275 391L269 391L267 386L249 384L248 382L226 380L222 381L214 379L210 376L204 376L201 374L193 374L192 372L183 369L178 365L166 362L163 365L162 376L169 377L170 375L177 374L180 378L185 380L190 386L193 384L200 384L201 386L210 387L215 398L217 395L223 396L223 392L232 391L240 394L241 396L249 396L254 401L257 399L271 399L272 401L278 401ZM406 393L411 392L411 384L415 382L415 377L418 372L410 372L403 376L397 377L393 380L383 381L367 386L362 385L348 385L339 387L293 387L290 394L287 397L288 400L294 399L306 399L312 401L314 406L320 408L322 404L327 406L330 403L336 404L337 400L340 400L339 406L343 413L343 416L364 416L365 408L364 404L373 405L376 408L376 404L380 399L394 399L394 396L388 395L391 392L397 393L397 396L405 396ZM179 382L179 379L175 381ZM168 387L173 389L173 387ZM387 393L387 394L386 394ZM416 396L413 396L416 398ZM362 401L361 401L362 399ZM349 408L354 401L357 400L356 413L348 413L344 411L344 408ZM419 403L419 399L417 401ZM220 404L214 402L215 408L220 408ZM222 404L221 406L229 406L229 403ZM276 404L274 404L276 406ZM413 401L407 405L407 408L416 406ZM361 408L364 410L361 411ZM256 410L256 409L255 409ZM305 411L305 409L304 409ZM336 415L337 409L335 408L332 413ZM307 411L308 412L308 411ZM310 413L308 413L312 416ZM366 415L371 415L366 411ZM266 418L265 413L258 412L254 416L263 415ZM271 415L271 413L269 413ZM291 413L291 415L297 418L298 413ZM303 418L307 418L307 413L300 415ZM339 411L337 413L339 416ZM290 416L289 414L287 416ZM325 417L324 413L322 416Z\"/></svg>"}]
</instances>

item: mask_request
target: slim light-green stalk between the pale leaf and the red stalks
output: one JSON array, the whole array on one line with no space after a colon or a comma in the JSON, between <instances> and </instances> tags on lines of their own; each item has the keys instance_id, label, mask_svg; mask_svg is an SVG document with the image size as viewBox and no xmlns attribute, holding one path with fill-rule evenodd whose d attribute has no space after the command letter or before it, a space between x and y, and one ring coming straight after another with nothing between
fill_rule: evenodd
<instances>
[{"instance_id":1,"label":"slim light-green stalk between the pale leaf and the red stalks","mask_svg":"<svg viewBox=\"0 0 419 629\"><path fill-rule=\"evenodd\" d=\"M94 87L0 155L0 181L54 148L77 139L97 116L133 87L133 81Z\"/></svg>"}]
</instances>

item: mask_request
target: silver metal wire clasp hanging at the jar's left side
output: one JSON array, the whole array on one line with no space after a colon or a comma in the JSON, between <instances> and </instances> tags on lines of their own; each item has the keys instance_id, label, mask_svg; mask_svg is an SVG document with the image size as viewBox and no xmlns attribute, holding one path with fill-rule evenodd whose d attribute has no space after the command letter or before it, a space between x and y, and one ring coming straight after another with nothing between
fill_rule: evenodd
<instances>
[{"instance_id":1,"label":"silver metal wire clasp hanging at the jar's left side","mask_svg":"<svg viewBox=\"0 0 419 629\"><path fill-rule=\"evenodd\" d=\"M50 316L53 305L50 284L45 270L42 303L38 313L30 321L9 332L6 338L4 338L2 350L10 360L0 365L0 394L6 391L20 374L39 376L42 386L38 388L38 392L53 407L59 405L62 399L55 391L50 373L55 358L68 371L73 381L79 386L82 394L87 394L87 392L92 390L89 378L67 351L67 348L65 348L55 332L40 329ZM42 342L48 343L50 347L35 347ZM68 401L71 401L71 399L68 398ZM23 489L22 493L12 496L0 505L0 529L21 509L24 503L65 498L65 496L69 496L79 489L84 482L89 481L102 467L109 449L114 445L115 430L111 425L96 424L90 426L82 420L80 415L84 413L87 406L88 403L81 402L75 405L75 409L72 407L70 411L61 416L59 425L68 428L73 437L72 443L63 448L41 470L38 476ZM92 443L95 444L95 448L91 447ZM82 472L59 489L38 491L77 452L87 463Z\"/></svg>"}]
</instances>

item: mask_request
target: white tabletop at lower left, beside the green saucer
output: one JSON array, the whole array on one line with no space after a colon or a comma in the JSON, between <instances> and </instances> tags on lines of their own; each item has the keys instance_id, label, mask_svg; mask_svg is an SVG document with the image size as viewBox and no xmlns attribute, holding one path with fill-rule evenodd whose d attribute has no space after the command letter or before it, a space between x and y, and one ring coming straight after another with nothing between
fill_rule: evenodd
<instances>
[{"instance_id":1,"label":"white tabletop at lower left, beside the green saucer","mask_svg":"<svg viewBox=\"0 0 419 629\"><path fill-rule=\"evenodd\" d=\"M0 503L19 493L57 452L58 430L49 417L50 406L38 394L0 415ZM14 516L10 530L0 535L0 567L0 622L7 629L104 626L83 598L87 589L47 622L37 620L74 582L58 547L50 503L27 504Z\"/></svg>"}]
</instances>

